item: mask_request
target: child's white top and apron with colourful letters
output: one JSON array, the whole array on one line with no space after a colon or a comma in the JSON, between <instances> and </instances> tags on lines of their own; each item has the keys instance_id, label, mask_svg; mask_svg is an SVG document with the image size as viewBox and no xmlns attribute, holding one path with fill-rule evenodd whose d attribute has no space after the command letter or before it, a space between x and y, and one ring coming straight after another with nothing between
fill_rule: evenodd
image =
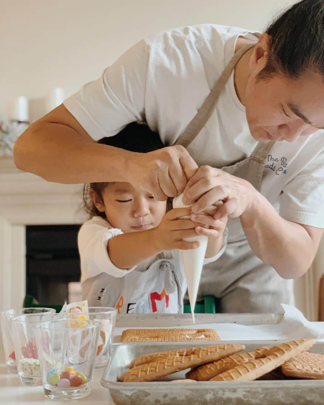
<instances>
[{"instance_id":1,"label":"child's white top and apron with colourful letters","mask_svg":"<svg viewBox=\"0 0 324 405\"><path fill-rule=\"evenodd\" d=\"M83 299L90 306L117 307L118 313L182 313L187 289L179 250L164 251L125 270L116 267L107 252L109 239L123 232L102 217L93 217L79 230ZM219 258L205 258L204 264ZM127 252L125 252L127 254Z\"/></svg>"}]
</instances>

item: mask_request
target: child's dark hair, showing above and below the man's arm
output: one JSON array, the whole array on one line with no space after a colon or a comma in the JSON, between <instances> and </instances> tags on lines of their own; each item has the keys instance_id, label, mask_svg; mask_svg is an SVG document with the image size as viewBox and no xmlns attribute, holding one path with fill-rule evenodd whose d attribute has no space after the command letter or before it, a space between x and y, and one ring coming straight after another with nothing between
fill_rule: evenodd
<instances>
[{"instance_id":1,"label":"child's dark hair, showing above and below the man's arm","mask_svg":"<svg viewBox=\"0 0 324 405\"><path fill-rule=\"evenodd\" d=\"M146 124L138 124L137 122L128 124L115 136L100 139L98 143L138 153L152 152L164 147L157 132L151 131ZM83 204L85 211L90 215L90 218L94 216L106 217L106 214L99 211L94 205L89 197L89 190L92 188L92 190L101 197L107 184L107 182L98 182L88 183L83 186ZM170 205L169 201L168 205Z\"/></svg>"}]
</instances>

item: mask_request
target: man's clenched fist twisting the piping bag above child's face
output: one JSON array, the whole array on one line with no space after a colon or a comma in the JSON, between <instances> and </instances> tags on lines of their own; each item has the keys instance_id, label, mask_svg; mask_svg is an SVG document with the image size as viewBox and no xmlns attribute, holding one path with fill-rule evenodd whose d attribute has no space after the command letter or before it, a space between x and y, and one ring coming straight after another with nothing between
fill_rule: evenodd
<instances>
[{"instance_id":1,"label":"man's clenched fist twisting the piping bag above child's face","mask_svg":"<svg viewBox=\"0 0 324 405\"><path fill-rule=\"evenodd\" d=\"M132 153L127 179L134 188L151 193L160 201L181 194L198 166L180 145L148 153Z\"/></svg>"}]
</instances>

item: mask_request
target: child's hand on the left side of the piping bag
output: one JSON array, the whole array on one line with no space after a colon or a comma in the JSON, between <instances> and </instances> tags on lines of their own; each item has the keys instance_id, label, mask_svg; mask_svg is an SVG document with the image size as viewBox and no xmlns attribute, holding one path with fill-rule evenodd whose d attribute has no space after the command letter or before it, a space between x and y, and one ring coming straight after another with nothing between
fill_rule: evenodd
<instances>
[{"instance_id":1,"label":"child's hand on the left side of the piping bag","mask_svg":"<svg viewBox=\"0 0 324 405\"><path fill-rule=\"evenodd\" d=\"M199 247L198 241L188 242L182 240L183 238L197 236L198 232L196 232L195 228L205 225L205 223L192 222L189 216L190 213L191 208L189 207L171 209L164 214L160 225L151 230L154 238L152 242L156 244L159 250L188 250ZM216 222L221 221L217 220Z\"/></svg>"}]
</instances>

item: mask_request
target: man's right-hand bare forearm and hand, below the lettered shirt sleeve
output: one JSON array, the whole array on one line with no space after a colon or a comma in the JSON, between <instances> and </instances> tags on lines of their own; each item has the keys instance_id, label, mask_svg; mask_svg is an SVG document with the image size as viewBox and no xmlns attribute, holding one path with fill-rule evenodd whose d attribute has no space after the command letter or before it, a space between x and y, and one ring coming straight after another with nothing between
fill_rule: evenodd
<instances>
[{"instance_id":1,"label":"man's right-hand bare forearm and hand, below the lettered shirt sleeve","mask_svg":"<svg viewBox=\"0 0 324 405\"><path fill-rule=\"evenodd\" d=\"M201 166L187 187L185 203L198 200L193 212L224 200L214 218L239 217L253 252L281 277L297 278L309 269L323 229L283 219L248 181L210 166Z\"/></svg>"}]
</instances>

